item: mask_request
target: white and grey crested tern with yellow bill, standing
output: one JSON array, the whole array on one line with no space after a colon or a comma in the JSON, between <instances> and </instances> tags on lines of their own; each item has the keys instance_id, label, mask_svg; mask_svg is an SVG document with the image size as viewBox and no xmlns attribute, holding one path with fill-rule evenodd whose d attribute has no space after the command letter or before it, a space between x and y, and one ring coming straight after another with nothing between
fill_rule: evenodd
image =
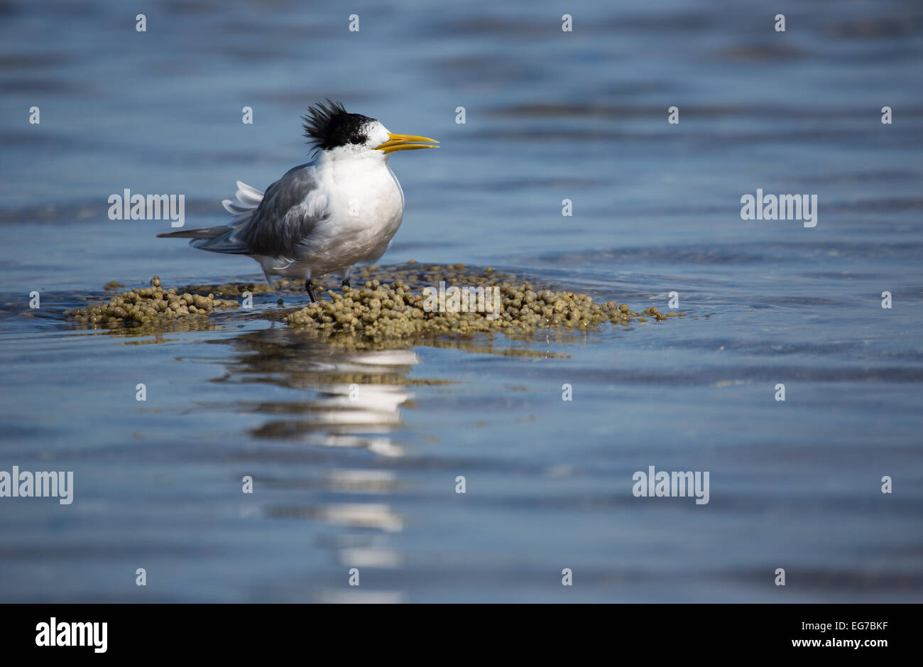
<instances>
[{"instance_id":1,"label":"white and grey crested tern with yellow bill, standing","mask_svg":"<svg viewBox=\"0 0 923 667\"><path fill-rule=\"evenodd\" d=\"M236 201L223 200L230 224L185 229L158 237L191 238L210 252L246 255L273 275L304 279L317 301L320 277L335 274L350 286L355 264L385 254L401 226L404 196L391 171L391 153L438 148L438 140L392 134L375 118L351 114L340 102L316 103L302 115L314 159L299 164L260 192L237 181Z\"/></svg>"}]
</instances>

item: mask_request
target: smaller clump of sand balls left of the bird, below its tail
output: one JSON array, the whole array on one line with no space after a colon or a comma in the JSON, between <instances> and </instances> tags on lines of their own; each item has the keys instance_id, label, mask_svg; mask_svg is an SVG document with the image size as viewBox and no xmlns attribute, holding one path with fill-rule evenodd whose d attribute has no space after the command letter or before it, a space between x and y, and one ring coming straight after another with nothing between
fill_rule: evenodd
<instances>
[{"instance_id":1,"label":"smaller clump of sand balls left of the bird, below its tail","mask_svg":"<svg viewBox=\"0 0 923 667\"><path fill-rule=\"evenodd\" d=\"M135 287L130 292L110 298L108 302L67 310L65 314L87 326L116 329L207 316L216 310L238 306L234 300L215 298L211 293L203 297L188 292L180 294L176 287L163 289L160 277L155 275L150 287Z\"/></svg>"}]
</instances>

